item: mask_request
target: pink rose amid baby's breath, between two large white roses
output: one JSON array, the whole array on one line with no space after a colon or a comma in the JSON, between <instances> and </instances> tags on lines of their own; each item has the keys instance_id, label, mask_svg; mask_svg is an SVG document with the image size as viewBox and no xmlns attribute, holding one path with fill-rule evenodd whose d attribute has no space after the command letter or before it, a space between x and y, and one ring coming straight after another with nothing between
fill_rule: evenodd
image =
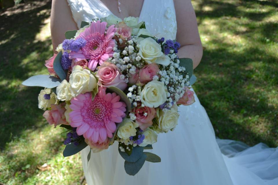
<instances>
[{"instance_id":1,"label":"pink rose amid baby's breath, between two large white roses","mask_svg":"<svg viewBox=\"0 0 278 185\"><path fill-rule=\"evenodd\" d=\"M146 65L139 70L140 82L146 84L153 80L153 76L158 75L159 68L155 63Z\"/></svg>"}]
</instances>

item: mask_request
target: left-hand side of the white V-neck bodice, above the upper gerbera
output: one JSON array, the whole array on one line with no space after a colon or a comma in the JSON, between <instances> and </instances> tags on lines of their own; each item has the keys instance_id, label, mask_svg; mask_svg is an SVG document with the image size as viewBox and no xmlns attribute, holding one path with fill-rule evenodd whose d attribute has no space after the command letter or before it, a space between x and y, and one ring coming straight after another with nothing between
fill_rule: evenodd
<instances>
[{"instance_id":1,"label":"left-hand side of the white V-neck bodice, above the upper gerbera","mask_svg":"<svg viewBox=\"0 0 278 185\"><path fill-rule=\"evenodd\" d=\"M80 29L81 22L113 14L100 0L67 0L72 17Z\"/></svg>"}]
</instances>

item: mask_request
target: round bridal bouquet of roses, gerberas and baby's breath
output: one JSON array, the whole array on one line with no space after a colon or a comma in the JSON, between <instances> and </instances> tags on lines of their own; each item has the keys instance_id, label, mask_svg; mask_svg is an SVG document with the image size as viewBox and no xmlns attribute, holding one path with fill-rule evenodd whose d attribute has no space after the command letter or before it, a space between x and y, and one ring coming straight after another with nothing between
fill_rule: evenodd
<instances>
[{"instance_id":1,"label":"round bridal bouquet of roses, gerberas and baby's breath","mask_svg":"<svg viewBox=\"0 0 278 185\"><path fill-rule=\"evenodd\" d=\"M100 152L118 141L125 171L135 175L145 161L160 158L152 149L157 134L178 124L178 106L194 103L189 85L193 62L178 58L180 44L155 38L145 23L110 15L67 31L45 66L49 75L23 82L44 87L39 108L50 125L67 129L63 155L87 145Z\"/></svg>"}]
</instances>

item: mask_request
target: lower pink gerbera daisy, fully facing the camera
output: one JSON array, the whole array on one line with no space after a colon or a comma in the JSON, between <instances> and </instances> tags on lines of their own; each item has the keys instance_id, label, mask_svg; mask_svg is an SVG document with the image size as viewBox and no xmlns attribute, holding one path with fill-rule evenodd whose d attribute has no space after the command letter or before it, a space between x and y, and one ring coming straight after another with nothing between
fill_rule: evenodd
<instances>
[{"instance_id":1,"label":"lower pink gerbera daisy, fully facing the camera","mask_svg":"<svg viewBox=\"0 0 278 185\"><path fill-rule=\"evenodd\" d=\"M107 137L112 138L116 131L116 123L125 117L126 104L119 101L115 92L105 93L105 88L92 100L92 93L80 94L71 100L72 112L69 113L70 125L77 127L78 135L84 136L94 143L103 143Z\"/></svg>"}]
</instances>

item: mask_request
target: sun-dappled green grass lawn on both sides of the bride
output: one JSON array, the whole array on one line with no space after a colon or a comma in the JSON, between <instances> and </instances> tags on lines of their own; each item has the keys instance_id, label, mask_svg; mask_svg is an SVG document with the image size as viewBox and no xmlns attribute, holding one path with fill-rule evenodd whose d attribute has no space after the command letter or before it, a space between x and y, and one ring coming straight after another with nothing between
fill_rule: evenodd
<instances>
[{"instance_id":1,"label":"sun-dappled green grass lawn on both sides of the bride","mask_svg":"<svg viewBox=\"0 0 278 185\"><path fill-rule=\"evenodd\" d=\"M220 138L278 146L278 2L194 0L204 55L194 89ZM51 1L0 10L0 184L80 184L81 158L64 158L62 128L37 107L47 73ZM83 183L85 184L85 182Z\"/></svg>"}]
</instances>

